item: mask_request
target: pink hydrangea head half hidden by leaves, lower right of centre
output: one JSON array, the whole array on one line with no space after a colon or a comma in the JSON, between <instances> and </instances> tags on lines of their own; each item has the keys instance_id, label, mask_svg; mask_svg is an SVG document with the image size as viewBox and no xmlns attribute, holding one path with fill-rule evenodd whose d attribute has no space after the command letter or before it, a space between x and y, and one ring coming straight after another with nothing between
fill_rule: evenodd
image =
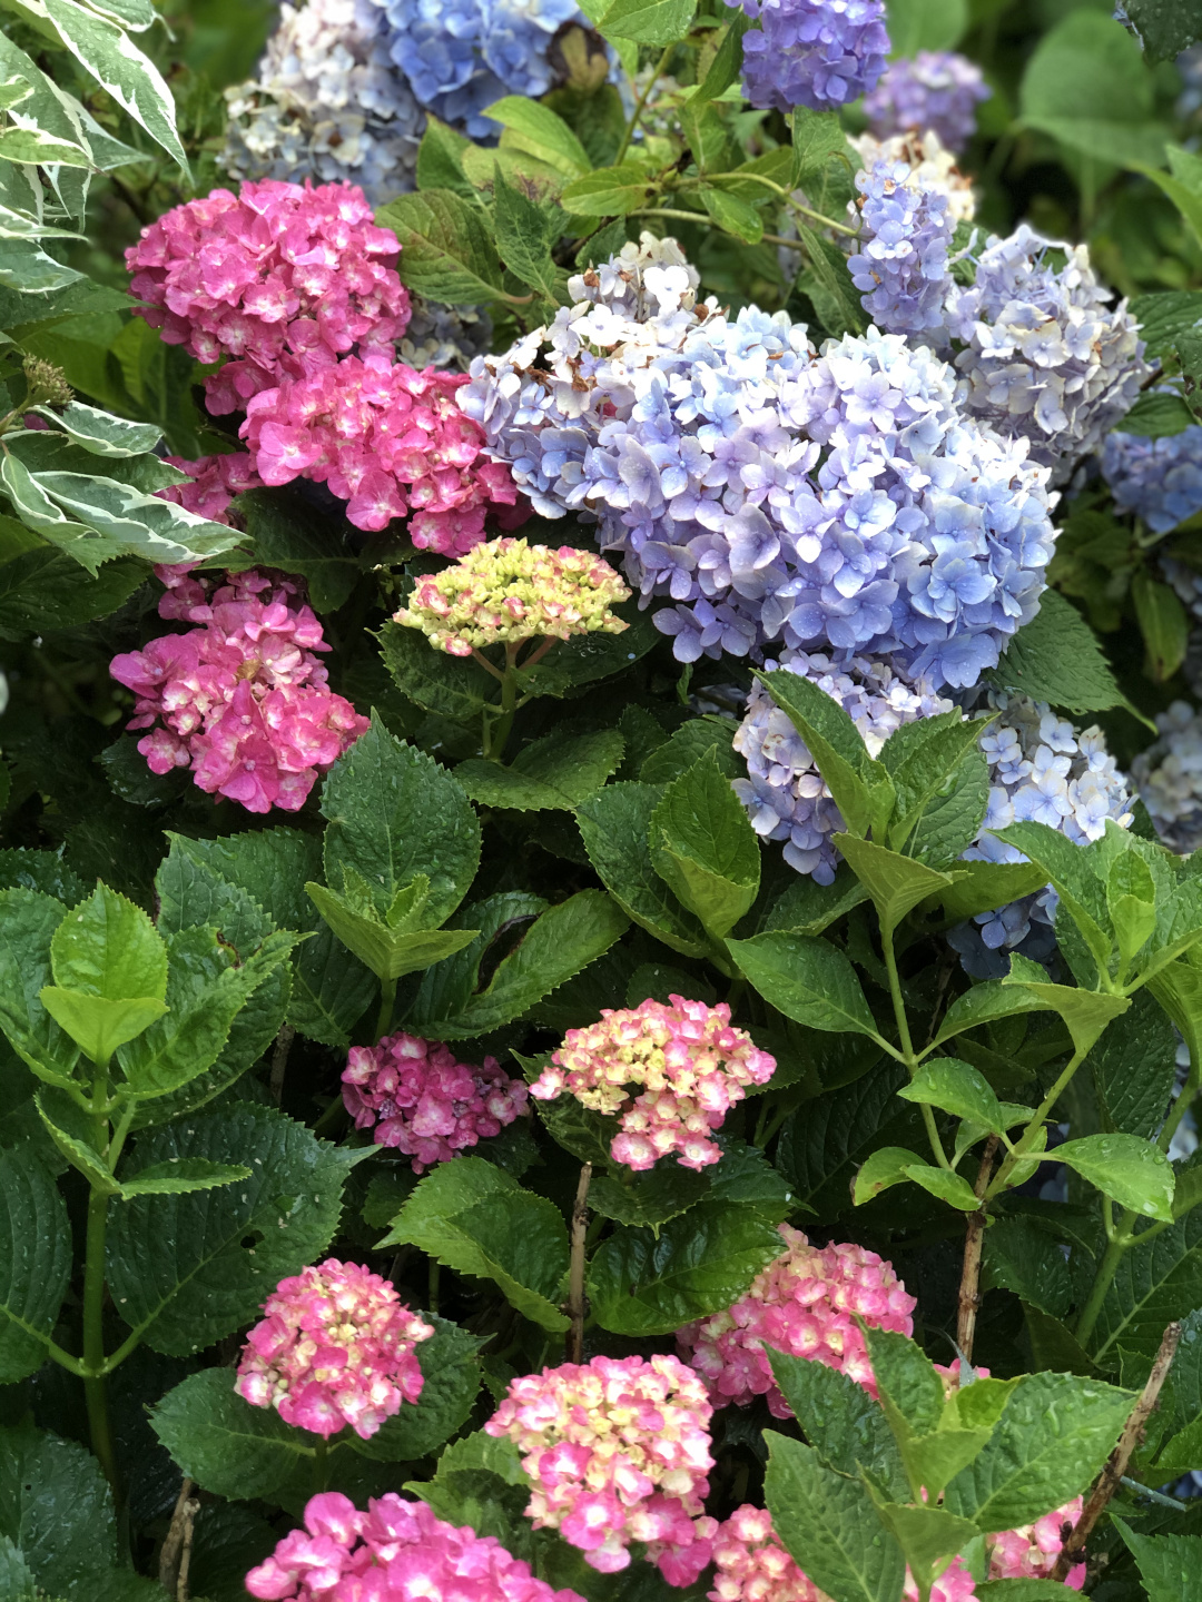
<instances>
[{"instance_id":1,"label":"pink hydrangea head half hidden by leaves, lower right of centre","mask_svg":"<svg viewBox=\"0 0 1202 1602\"><path fill-rule=\"evenodd\" d=\"M745 1407L764 1395L774 1418L793 1416L764 1346L838 1368L877 1395L856 1314L878 1330L912 1334L915 1298L875 1251L811 1246L800 1229L779 1229L787 1250L732 1307L680 1330L681 1355L704 1376L718 1407Z\"/></svg>"}]
</instances>

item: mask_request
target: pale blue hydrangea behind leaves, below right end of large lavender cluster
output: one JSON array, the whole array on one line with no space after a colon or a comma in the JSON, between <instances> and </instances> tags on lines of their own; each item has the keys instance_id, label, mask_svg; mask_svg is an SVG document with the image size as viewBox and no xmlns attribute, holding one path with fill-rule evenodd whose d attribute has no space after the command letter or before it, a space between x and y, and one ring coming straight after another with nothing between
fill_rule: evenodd
<instances>
[{"instance_id":1,"label":"pale blue hydrangea behind leaves, below right end of large lavender cluster","mask_svg":"<svg viewBox=\"0 0 1202 1602\"><path fill-rule=\"evenodd\" d=\"M1125 774L1106 750L1098 727L1079 734L1043 702L1024 695L990 694L1000 716L981 735L989 761L989 811L966 862L1026 862L994 830L1034 820L1059 830L1077 846L1101 839L1106 823L1131 827L1131 791ZM1010 953L1047 963L1056 948L1051 886L992 912L978 913L947 936L965 969L976 979L1002 977Z\"/></svg>"}]
</instances>

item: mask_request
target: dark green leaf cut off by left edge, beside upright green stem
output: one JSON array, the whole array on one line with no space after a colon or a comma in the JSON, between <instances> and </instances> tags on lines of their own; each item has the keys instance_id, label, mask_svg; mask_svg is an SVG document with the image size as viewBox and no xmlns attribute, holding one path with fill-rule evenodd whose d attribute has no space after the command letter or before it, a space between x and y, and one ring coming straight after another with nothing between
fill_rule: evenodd
<instances>
[{"instance_id":1,"label":"dark green leaf cut off by left edge, beside upright green stem","mask_svg":"<svg viewBox=\"0 0 1202 1602\"><path fill-rule=\"evenodd\" d=\"M71 1254L71 1222L51 1174L29 1147L0 1152L0 1384L46 1360Z\"/></svg>"}]
</instances>

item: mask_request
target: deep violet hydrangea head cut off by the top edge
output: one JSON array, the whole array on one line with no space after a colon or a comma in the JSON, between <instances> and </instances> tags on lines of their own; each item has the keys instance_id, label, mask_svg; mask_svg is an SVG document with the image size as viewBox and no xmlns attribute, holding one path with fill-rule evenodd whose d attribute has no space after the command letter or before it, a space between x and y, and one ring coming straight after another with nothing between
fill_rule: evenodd
<instances>
[{"instance_id":1,"label":"deep violet hydrangea head cut off by the top edge","mask_svg":"<svg viewBox=\"0 0 1202 1602\"><path fill-rule=\"evenodd\" d=\"M744 35L744 95L752 106L838 109L885 70L881 0L742 0L742 8L760 21Z\"/></svg>"}]
</instances>

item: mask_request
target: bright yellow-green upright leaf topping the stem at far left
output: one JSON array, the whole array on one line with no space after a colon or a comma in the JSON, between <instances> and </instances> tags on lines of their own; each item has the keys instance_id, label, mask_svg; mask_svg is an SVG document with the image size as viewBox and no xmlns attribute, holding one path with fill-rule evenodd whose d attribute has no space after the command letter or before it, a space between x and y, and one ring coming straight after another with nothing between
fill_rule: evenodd
<instances>
[{"instance_id":1,"label":"bright yellow-green upright leaf topping the stem at far left","mask_svg":"<svg viewBox=\"0 0 1202 1602\"><path fill-rule=\"evenodd\" d=\"M106 884L59 923L50 960L66 990L107 1001L167 995L167 947L141 907Z\"/></svg>"}]
</instances>

